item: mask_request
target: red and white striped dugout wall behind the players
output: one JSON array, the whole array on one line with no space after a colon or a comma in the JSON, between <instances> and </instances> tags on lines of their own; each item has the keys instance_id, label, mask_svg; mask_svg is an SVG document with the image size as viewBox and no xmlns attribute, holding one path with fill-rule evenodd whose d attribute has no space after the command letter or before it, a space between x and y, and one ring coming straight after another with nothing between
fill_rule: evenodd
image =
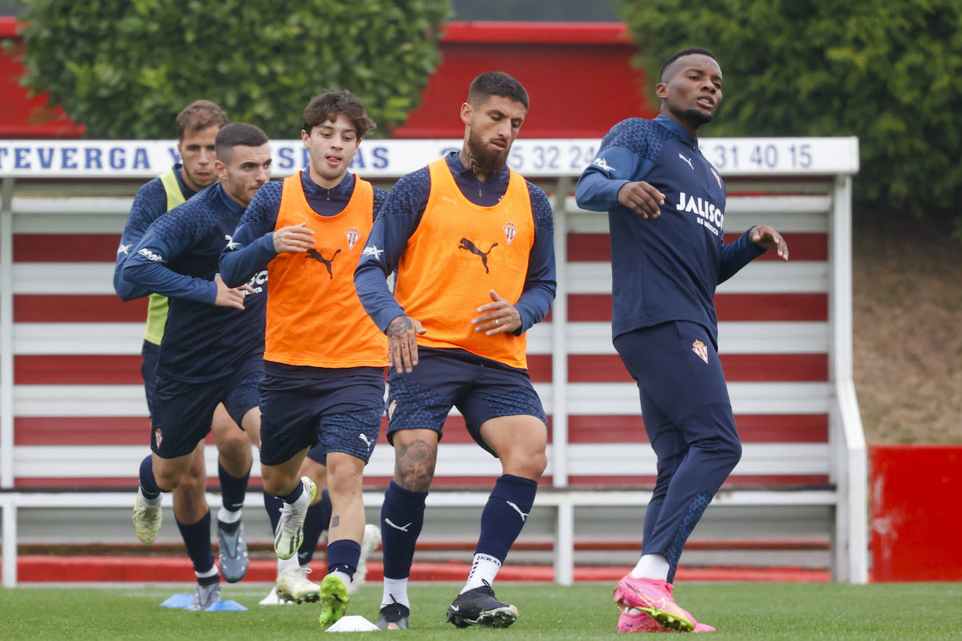
<instances>
[{"instance_id":1,"label":"red and white striped dugout wall behind the players","mask_svg":"<svg viewBox=\"0 0 962 641\"><path fill-rule=\"evenodd\" d=\"M849 156L855 145L853 167L844 170L834 157L819 165L822 157L816 155L816 167L807 173L722 170L729 191L726 242L752 225L770 224L786 237L792 258L756 259L718 290L720 355L744 442L726 487L823 488L838 507L836 533L851 538L856 550L840 557L847 565L843 576L858 580L864 576L857 554L865 548L859 539L865 536L859 495L865 475L858 468L864 470L864 441L850 385L848 248L849 176L857 171L857 144L821 140L841 140ZM826 149L823 155L831 151ZM820 172L819 166L826 168ZM531 375L552 429L544 482L559 490L650 484L655 459L637 386L611 342L607 216L577 209L570 193L580 171L534 173L553 200L559 259L558 300L529 333ZM396 177L374 170L362 175ZM100 194L86 196L74 195L70 183L52 191L51 185L3 179L4 490L129 488L149 451L139 374L146 306L120 302L112 284L119 234L137 185L128 183L124 196L102 195L116 193L115 185L97 186L108 178L78 187ZM215 485L213 447L208 463ZM392 472L393 452L382 431L367 486L383 486ZM498 474L494 458L473 444L452 412L436 486L487 486ZM259 476L255 465L255 483Z\"/></svg>"}]
</instances>

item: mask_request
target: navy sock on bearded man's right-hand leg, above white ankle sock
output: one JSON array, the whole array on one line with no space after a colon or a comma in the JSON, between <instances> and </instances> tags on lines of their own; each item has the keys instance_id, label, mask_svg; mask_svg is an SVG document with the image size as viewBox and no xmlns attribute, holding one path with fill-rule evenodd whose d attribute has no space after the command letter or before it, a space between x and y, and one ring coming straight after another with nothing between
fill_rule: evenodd
<instances>
[{"instance_id":1,"label":"navy sock on bearded man's right-hand leg, above white ankle sock","mask_svg":"<svg viewBox=\"0 0 962 641\"><path fill-rule=\"evenodd\" d=\"M502 475L481 512L481 536L475 554L491 555L504 562L527 521L535 502L538 481Z\"/></svg>"}]
</instances>

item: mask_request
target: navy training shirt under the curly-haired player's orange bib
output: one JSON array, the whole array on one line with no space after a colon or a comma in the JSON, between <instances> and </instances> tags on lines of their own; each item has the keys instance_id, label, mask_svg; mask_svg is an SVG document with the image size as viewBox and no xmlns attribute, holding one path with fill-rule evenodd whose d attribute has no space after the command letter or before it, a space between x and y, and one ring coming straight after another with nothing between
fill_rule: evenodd
<instances>
[{"instance_id":1,"label":"navy training shirt under the curly-haired player's orange bib","mask_svg":"<svg viewBox=\"0 0 962 641\"><path fill-rule=\"evenodd\" d=\"M354 194L354 174L345 174L341 183L330 189L316 185L307 171L301 172L301 185L308 205L321 216L341 213ZM374 207L371 215L377 217L388 192L374 188ZM281 194L284 181L272 181L262 185L251 199L241 216L234 242L225 246L220 257L220 278L230 286L245 283L251 275L267 268L267 263L277 256L274 251L274 229L277 214L281 210Z\"/></svg>"}]
</instances>

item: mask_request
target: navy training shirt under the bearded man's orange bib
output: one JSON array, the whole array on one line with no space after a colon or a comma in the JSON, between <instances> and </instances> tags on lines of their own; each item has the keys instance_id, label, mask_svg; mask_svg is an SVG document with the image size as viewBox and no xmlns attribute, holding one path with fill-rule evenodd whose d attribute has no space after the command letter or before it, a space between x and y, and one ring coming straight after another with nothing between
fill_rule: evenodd
<instances>
[{"instance_id":1,"label":"navy training shirt under the bearded man's orange bib","mask_svg":"<svg viewBox=\"0 0 962 641\"><path fill-rule=\"evenodd\" d=\"M455 184L475 205L492 207L508 189L511 174L506 166L481 182L469 167L462 164L458 152L451 152L445 160ZM531 183L527 186L534 215L535 240L528 258L524 289L515 304L521 317L521 327L515 332L518 335L527 332L547 315L556 288L551 205L541 187ZM408 238L418 229L430 195L431 173L426 166L397 181L374 220L365 253L354 272L358 297L382 332L394 318L404 314L404 309L388 288L386 277L397 269Z\"/></svg>"}]
</instances>

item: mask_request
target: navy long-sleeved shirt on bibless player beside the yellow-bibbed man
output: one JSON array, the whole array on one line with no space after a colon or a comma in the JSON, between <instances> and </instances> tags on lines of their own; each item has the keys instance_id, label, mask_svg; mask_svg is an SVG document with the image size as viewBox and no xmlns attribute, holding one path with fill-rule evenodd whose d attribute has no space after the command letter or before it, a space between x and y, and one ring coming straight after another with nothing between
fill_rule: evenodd
<instances>
[{"instance_id":1,"label":"navy long-sleeved shirt on bibless player beside the yellow-bibbed man","mask_svg":"<svg viewBox=\"0 0 962 641\"><path fill-rule=\"evenodd\" d=\"M125 280L170 299L159 374L213 381L264 353L266 271L251 279L243 309L214 305L220 252L242 212L219 183L211 185L151 223L124 264Z\"/></svg>"}]
</instances>

